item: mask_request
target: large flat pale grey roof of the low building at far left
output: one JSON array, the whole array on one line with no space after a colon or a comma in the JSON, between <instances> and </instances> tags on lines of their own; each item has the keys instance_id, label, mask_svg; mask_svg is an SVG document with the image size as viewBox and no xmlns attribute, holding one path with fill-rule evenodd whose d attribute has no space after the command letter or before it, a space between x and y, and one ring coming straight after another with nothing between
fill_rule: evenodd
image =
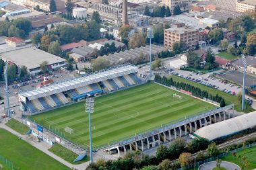
<instances>
[{"instance_id":1,"label":"large flat pale grey roof of the low building at far left","mask_svg":"<svg viewBox=\"0 0 256 170\"><path fill-rule=\"evenodd\" d=\"M40 67L40 63L44 61L48 61L49 65L65 61L65 59L59 56L55 56L35 47L3 52L0 56L5 60L15 63L18 67L26 66L27 69L38 68Z\"/></svg>"}]
</instances>

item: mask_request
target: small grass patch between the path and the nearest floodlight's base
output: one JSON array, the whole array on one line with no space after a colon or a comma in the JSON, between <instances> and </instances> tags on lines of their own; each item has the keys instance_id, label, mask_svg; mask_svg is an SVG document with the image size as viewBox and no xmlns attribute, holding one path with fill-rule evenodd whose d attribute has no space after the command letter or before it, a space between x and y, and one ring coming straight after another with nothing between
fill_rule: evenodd
<instances>
[{"instance_id":1,"label":"small grass patch between the path and the nearest floodlight's base","mask_svg":"<svg viewBox=\"0 0 256 170\"><path fill-rule=\"evenodd\" d=\"M73 162L78 155L73 153L72 151L69 151L67 148L61 146L61 144L57 144L57 143L53 144L53 146L49 148L49 151L51 151L55 155L58 155L65 161L68 161L69 163L72 163L72 164L80 164L80 163L90 161L90 157L86 155L86 157L84 157L84 159L82 159L81 161Z\"/></svg>"}]
</instances>

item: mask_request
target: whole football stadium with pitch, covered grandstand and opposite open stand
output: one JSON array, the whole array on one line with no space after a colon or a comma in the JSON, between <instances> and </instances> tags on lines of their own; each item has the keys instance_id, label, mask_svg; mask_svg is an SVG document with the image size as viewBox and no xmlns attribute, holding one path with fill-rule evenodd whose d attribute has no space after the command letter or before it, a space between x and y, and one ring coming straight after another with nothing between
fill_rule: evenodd
<instances>
[{"instance_id":1,"label":"whole football stadium with pitch, covered grandstand and opposite open stand","mask_svg":"<svg viewBox=\"0 0 256 170\"><path fill-rule=\"evenodd\" d=\"M179 90L146 83L137 72L137 67L123 65L24 92L19 95L20 109L32 122L88 148L88 114L82 101L95 94L94 150L104 148L119 156L120 150L144 151L230 118L226 111L233 105L218 108Z\"/></svg>"}]
</instances>

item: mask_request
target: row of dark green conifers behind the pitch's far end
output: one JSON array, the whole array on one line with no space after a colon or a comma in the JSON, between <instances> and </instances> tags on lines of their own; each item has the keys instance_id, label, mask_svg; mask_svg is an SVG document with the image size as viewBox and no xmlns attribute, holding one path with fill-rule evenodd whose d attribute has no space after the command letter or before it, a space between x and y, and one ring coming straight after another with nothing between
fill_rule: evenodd
<instances>
[{"instance_id":1,"label":"row of dark green conifers behind the pitch's far end","mask_svg":"<svg viewBox=\"0 0 256 170\"><path fill-rule=\"evenodd\" d=\"M172 78L168 79L166 77L161 77L160 75L155 76L155 81L169 87L173 86L173 87L177 87L178 89L189 91L195 97L207 98L212 101L216 101L220 103L220 108L226 106L225 99L223 97L219 96L218 94L216 95L209 94L206 90L201 90L199 87L195 87L188 83L174 81Z\"/></svg>"}]
</instances>

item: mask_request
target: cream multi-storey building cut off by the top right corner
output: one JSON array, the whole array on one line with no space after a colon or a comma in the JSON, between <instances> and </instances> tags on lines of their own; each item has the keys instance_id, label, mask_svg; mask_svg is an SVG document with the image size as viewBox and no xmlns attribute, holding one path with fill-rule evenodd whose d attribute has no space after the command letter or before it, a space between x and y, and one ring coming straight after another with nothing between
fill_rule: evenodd
<instances>
[{"instance_id":1,"label":"cream multi-storey building cut off by the top right corner","mask_svg":"<svg viewBox=\"0 0 256 170\"><path fill-rule=\"evenodd\" d=\"M243 13L249 10L256 11L256 0L236 1L236 11Z\"/></svg>"}]
</instances>

